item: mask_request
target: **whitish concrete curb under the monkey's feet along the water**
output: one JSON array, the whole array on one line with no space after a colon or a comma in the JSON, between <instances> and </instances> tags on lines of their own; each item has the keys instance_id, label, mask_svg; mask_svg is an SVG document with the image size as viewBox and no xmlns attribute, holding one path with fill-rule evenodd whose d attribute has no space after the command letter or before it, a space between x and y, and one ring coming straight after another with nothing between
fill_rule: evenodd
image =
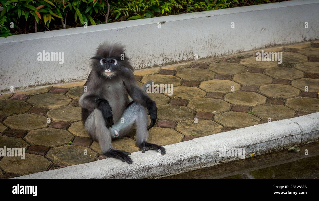
<instances>
[{"instance_id":1,"label":"whitish concrete curb under the monkey's feet along the water","mask_svg":"<svg viewBox=\"0 0 319 201\"><path fill-rule=\"evenodd\" d=\"M245 148L245 156L249 157L318 140L319 112L167 145L165 156L152 150L134 152L130 165L108 158L15 178L160 178L238 160L219 157L219 148L224 146Z\"/></svg>"}]
</instances>

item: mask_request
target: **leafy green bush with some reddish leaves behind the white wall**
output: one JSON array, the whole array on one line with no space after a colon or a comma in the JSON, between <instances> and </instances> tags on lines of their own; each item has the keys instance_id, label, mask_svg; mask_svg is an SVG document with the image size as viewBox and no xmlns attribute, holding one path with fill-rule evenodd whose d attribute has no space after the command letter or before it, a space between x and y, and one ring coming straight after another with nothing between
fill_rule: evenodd
<instances>
[{"instance_id":1,"label":"leafy green bush with some reddish leaves behind the white wall","mask_svg":"<svg viewBox=\"0 0 319 201\"><path fill-rule=\"evenodd\" d=\"M0 36L285 0L0 0Z\"/></svg>"}]
</instances>

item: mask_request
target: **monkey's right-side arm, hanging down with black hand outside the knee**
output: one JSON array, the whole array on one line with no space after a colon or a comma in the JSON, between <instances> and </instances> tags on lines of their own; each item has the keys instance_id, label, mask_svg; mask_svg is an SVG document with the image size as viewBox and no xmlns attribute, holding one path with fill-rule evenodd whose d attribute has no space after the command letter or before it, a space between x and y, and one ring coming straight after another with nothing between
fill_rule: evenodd
<instances>
[{"instance_id":1,"label":"monkey's right-side arm, hanging down with black hand outside the knee","mask_svg":"<svg viewBox=\"0 0 319 201\"><path fill-rule=\"evenodd\" d=\"M151 117L151 123L148 126L148 130L155 125L157 119L157 107L154 100L152 100L145 91L137 86L133 73L130 75L130 79L124 81L124 85L130 94L131 98L147 108L147 113Z\"/></svg>"}]
</instances>

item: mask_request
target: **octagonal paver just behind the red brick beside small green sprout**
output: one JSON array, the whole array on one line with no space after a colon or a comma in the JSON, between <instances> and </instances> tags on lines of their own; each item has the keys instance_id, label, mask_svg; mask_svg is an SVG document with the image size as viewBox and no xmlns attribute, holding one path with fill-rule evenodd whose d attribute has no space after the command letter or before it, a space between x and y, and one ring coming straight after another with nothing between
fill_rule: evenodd
<instances>
[{"instance_id":1,"label":"octagonal paver just behind the red brick beside small green sprout","mask_svg":"<svg viewBox=\"0 0 319 201\"><path fill-rule=\"evenodd\" d=\"M234 105L255 106L266 103L266 97L255 92L237 91L226 94L225 100Z\"/></svg>"}]
</instances>

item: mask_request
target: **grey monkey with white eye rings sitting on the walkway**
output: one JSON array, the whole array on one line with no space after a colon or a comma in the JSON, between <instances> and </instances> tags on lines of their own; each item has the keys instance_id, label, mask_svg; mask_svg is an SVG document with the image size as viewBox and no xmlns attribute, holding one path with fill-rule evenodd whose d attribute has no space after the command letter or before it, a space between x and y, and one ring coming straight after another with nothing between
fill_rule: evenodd
<instances>
[{"instance_id":1,"label":"grey monkey with white eye rings sitting on the walkway","mask_svg":"<svg viewBox=\"0 0 319 201\"><path fill-rule=\"evenodd\" d=\"M90 61L92 69L84 84L87 90L80 96L79 105L83 125L91 138L99 142L102 154L131 164L130 153L113 149L112 139L128 135L135 124L136 145L142 153L153 149L165 155L164 147L147 142L148 130L157 119L157 107L138 87L125 46L103 42Z\"/></svg>"}]
</instances>

